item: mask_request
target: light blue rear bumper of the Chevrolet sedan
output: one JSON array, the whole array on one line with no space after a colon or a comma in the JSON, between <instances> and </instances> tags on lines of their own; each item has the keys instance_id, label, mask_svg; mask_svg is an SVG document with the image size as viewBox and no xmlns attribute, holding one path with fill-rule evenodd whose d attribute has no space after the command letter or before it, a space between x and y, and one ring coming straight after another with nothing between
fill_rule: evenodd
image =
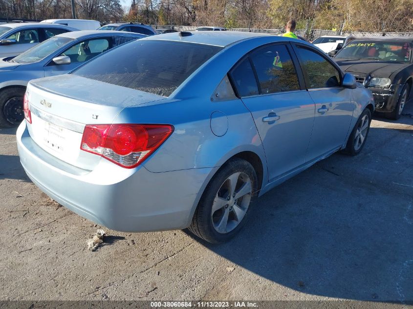
<instances>
[{"instance_id":1,"label":"light blue rear bumper of the Chevrolet sedan","mask_svg":"<svg viewBox=\"0 0 413 309\"><path fill-rule=\"evenodd\" d=\"M93 171L67 165L33 142L25 121L17 130L20 160L30 179L73 212L128 232L188 227L211 168L152 173L105 159Z\"/></svg>"}]
</instances>

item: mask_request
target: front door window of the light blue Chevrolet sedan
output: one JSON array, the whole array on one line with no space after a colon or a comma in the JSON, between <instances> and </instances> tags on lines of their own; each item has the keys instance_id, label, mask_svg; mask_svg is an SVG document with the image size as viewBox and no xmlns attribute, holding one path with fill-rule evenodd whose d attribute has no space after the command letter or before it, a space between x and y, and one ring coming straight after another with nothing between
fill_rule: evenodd
<instances>
[{"instance_id":1,"label":"front door window of the light blue Chevrolet sedan","mask_svg":"<svg viewBox=\"0 0 413 309\"><path fill-rule=\"evenodd\" d=\"M304 75L307 77L308 89L340 86L340 73L333 64L307 48L298 47L297 51Z\"/></svg>"}]
</instances>

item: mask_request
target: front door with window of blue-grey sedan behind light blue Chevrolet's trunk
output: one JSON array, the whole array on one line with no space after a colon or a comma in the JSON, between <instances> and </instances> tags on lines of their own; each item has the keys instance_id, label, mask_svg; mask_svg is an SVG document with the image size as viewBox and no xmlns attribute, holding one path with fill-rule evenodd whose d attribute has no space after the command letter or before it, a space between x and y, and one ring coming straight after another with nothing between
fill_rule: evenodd
<instances>
[{"instance_id":1,"label":"front door with window of blue-grey sedan behind light blue Chevrolet's trunk","mask_svg":"<svg viewBox=\"0 0 413 309\"><path fill-rule=\"evenodd\" d=\"M83 62L102 54L112 47L112 38L93 38L77 41L64 52L60 52L54 57L67 56L70 58L69 64L56 64L51 60L44 66L44 76L61 75L77 68Z\"/></svg>"}]
</instances>

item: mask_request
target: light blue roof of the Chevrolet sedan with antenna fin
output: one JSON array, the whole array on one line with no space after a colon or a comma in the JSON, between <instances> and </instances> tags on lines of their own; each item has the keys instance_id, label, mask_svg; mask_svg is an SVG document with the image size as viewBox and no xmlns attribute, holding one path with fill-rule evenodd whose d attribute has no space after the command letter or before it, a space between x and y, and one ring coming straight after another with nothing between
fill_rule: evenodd
<instances>
[{"instance_id":1,"label":"light blue roof of the Chevrolet sedan with antenna fin","mask_svg":"<svg viewBox=\"0 0 413 309\"><path fill-rule=\"evenodd\" d=\"M180 34L188 34L187 36L180 36ZM240 32L240 31L191 31L191 32L174 32L165 33L161 36L151 36L144 38L143 40L165 40L165 41L183 41L190 43L199 43L207 45L215 45L225 47L233 44L237 41L259 38L259 37L272 37L276 41L289 41L286 37L277 37L267 33L253 33L253 32ZM293 39L294 40L294 39Z\"/></svg>"}]
</instances>

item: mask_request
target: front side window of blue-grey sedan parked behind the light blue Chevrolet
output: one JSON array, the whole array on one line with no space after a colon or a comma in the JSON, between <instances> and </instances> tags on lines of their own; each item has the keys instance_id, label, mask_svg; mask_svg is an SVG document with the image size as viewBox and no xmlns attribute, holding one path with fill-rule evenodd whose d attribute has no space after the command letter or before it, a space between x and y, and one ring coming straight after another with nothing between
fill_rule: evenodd
<instances>
[{"instance_id":1,"label":"front side window of blue-grey sedan parked behind the light blue Chevrolet","mask_svg":"<svg viewBox=\"0 0 413 309\"><path fill-rule=\"evenodd\" d=\"M109 49L108 39L85 40L67 49L61 56L70 58L70 63L86 62Z\"/></svg>"}]
</instances>

